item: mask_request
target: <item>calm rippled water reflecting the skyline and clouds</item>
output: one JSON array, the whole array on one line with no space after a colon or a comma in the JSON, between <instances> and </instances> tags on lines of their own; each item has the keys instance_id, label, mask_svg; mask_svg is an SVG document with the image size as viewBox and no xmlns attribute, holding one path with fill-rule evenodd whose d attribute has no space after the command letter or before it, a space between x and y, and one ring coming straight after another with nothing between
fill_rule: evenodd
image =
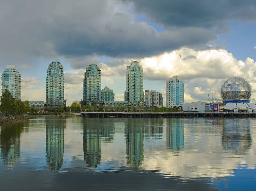
<instances>
[{"instance_id":1,"label":"calm rippled water reflecting the skyline and clouds","mask_svg":"<svg viewBox=\"0 0 256 191\"><path fill-rule=\"evenodd\" d=\"M256 119L36 118L0 128L0 190L256 190Z\"/></svg>"}]
</instances>

